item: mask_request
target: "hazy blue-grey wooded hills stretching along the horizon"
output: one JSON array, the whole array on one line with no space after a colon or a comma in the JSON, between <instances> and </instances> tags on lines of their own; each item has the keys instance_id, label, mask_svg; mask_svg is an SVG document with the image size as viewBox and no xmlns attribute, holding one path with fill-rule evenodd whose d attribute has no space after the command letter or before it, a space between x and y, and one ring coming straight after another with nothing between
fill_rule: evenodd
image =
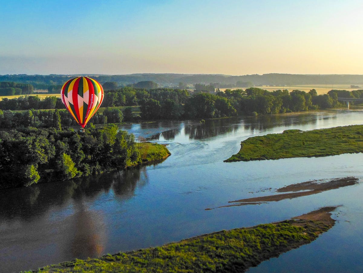
<instances>
[{"instance_id":1,"label":"hazy blue-grey wooded hills stretching along the horizon","mask_svg":"<svg viewBox=\"0 0 363 273\"><path fill-rule=\"evenodd\" d=\"M231 76L223 74L129 74L129 75L102 75L102 74L80 74L80 75L0 75L0 82L30 83L34 87L46 85L62 85L65 81L76 76L94 77L101 84L105 82L117 82L119 86L137 83L140 81L153 81L159 86L178 86L179 82L184 84L195 83L221 83L235 85L237 81L252 82L255 86L261 85L309 85L309 84L363 84L363 75L302 75L302 74L278 74L270 73L263 75Z\"/></svg>"}]
</instances>

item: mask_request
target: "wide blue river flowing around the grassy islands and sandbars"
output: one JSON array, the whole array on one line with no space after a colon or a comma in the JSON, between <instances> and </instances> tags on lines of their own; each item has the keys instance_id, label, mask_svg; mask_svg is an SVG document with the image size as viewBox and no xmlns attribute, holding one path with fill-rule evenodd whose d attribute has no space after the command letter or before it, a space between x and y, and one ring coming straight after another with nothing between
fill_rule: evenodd
<instances>
[{"instance_id":1,"label":"wide blue river flowing around the grassy islands and sandbars","mask_svg":"<svg viewBox=\"0 0 363 273\"><path fill-rule=\"evenodd\" d=\"M363 111L334 110L122 126L136 138L168 144L172 155L151 166L1 190L0 272L147 248L337 205L332 229L249 272L361 272L362 154L223 160L238 152L241 140L256 135L362 123ZM347 176L360 181L310 196L218 208L228 201L276 194L289 184Z\"/></svg>"}]
</instances>

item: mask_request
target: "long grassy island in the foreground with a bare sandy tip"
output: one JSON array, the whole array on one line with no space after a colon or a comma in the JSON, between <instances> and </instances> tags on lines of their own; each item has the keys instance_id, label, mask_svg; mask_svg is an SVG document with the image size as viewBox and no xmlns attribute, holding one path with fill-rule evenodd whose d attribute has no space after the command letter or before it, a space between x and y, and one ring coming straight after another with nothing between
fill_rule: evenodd
<instances>
[{"instance_id":1,"label":"long grassy island in the foreground with a bare sandy tip","mask_svg":"<svg viewBox=\"0 0 363 273\"><path fill-rule=\"evenodd\" d=\"M315 240L333 227L335 220L330 212L335 208L321 208L278 223L210 233L155 248L76 259L33 272L243 272Z\"/></svg>"}]
</instances>

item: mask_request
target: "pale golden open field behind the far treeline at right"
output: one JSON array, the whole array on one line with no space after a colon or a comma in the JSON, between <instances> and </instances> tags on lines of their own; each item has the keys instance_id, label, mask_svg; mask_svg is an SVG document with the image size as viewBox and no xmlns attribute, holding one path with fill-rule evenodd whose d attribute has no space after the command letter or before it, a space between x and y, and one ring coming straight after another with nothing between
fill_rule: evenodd
<instances>
[{"instance_id":1,"label":"pale golden open field behind the far treeline at right","mask_svg":"<svg viewBox=\"0 0 363 273\"><path fill-rule=\"evenodd\" d=\"M305 91L305 92L309 92L311 89L315 89L317 90L318 95L322 95L322 94L327 94L328 91L332 90L332 89L342 89L342 90L348 90L348 91L352 91L352 90L358 90L359 88L350 88L350 85L348 84L339 84L339 85L332 85L332 84L314 84L314 85L291 85L291 86L255 86L261 89L265 89L268 91L274 91L274 90L284 90L287 89L289 90L289 92L291 92L292 90L301 90L301 91ZM361 89L363 89L363 86ZM224 91L226 89L245 89L245 88L220 88L221 91Z\"/></svg>"}]
</instances>

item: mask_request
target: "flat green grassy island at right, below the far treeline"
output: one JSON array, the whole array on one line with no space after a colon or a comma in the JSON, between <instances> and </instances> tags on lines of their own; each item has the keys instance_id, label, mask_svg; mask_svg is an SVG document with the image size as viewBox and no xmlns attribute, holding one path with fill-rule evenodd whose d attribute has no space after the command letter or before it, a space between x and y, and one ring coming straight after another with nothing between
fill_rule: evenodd
<instances>
[{"instance_id":1,"label":"flat green grassy island at right, below the far treeline","mask_svg":"<svg viewBox=\"0 0 363 273\"><path fill-rule=\"evenodd\" d=\"M363 152L363 125L251 137L224 162L340 155Z\"/></svg>"}]
</instances>

